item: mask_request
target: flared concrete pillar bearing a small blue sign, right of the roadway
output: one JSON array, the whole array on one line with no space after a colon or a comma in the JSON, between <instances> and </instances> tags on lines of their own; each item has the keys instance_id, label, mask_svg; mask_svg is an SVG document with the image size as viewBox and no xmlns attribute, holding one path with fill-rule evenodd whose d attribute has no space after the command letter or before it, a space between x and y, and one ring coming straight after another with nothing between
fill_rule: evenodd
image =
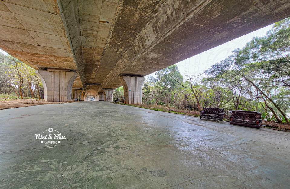
<instances>
[{"instance_id":1,"label":"flared concrete pillar bearing a small blue sign, right of the roadway","mask_svg":"<svg viewBox=\"0 0 290 189\"><path fill-rule=\"evenodd\" d=\"M124 88L124 103L142 104L142 85L145 78L136 76L120 76L119 80Z\"/></svg>"}]
</instances>

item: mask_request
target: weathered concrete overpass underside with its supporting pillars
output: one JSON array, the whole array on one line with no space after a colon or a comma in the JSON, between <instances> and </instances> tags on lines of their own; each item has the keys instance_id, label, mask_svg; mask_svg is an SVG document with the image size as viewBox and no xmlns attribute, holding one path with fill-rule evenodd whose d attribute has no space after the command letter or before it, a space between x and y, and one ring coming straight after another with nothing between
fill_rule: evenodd
<instances>
[{"instance_id":1,"label":"weathered concrete overpass underside with its supporting pillars","mask_svg":"<svg viewBox=\"0 0 290 189\"><path fill-rule=\"evenodd\" d=\"M288 0L3 0L0 48L58 74L45 82L51 99L123 85L125 103L138 104L142 76L288 16ZM57 85L69 71L72 86Z\"/></svg>"}]
</instances>

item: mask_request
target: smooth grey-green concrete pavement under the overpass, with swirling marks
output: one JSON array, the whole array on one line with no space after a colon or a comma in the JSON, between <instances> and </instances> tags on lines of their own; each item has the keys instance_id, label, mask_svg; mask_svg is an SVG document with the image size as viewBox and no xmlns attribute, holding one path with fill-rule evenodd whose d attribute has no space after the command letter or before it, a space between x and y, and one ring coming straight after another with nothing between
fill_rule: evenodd
<instances>
[{"instance_id":1,"label":"smooth grey-green concrete pavement under the overpass, with swirling marks","mask_svg":"<svg viewBox=\"0 0 290 189\"><path fill-rule=\"evenodd\" d=\"M48 128L67 139L47 148ZM289 188L290 133L77 102L0 111L0 188Z\"/></svg>"}]
</instances>

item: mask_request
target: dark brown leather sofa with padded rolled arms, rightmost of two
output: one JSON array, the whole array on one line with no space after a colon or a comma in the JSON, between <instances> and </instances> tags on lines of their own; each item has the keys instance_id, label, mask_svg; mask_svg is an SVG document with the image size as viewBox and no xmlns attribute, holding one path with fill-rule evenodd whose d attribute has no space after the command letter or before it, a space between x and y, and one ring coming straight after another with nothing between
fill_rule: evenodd
<instances>
[{"instance_id":1,"label":"dark brown leather sofa with padded rolled arms, rightmost of two","mask_svg":"<svg viewBox=\"0 0 290 189\"><path fill-rule=\"evenodd\" d=\"M256 111L233 110L230 116L230 124L259 129L263 121L261 116L262 114Z\"/></svg>"}]
</instances>

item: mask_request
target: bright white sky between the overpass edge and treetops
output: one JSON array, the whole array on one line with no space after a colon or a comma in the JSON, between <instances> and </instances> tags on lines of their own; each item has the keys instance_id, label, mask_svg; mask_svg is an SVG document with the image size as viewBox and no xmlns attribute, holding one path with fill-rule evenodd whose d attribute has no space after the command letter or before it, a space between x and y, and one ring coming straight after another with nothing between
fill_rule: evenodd
<instances>
[{"instance_id":1,"label":"bright white sky between the overpass edge and treetops","mask_svg":"<svg viewBox=\"0 0 290 189\"><path fill-rule=\"evenodd\" d=\"M188 75L203 73L204 70L207 70L215 63L220 62L230 56L234 49L243 48L253 37L261 37L266 35L266 32L272 28L272 25L273 24L178 62L176 63L178 70L183 76L186 76L186 71ZM0 52L5 53L1 49ZM150 75L155 77L155 72Z\"/></svg>"}]
</instances>

